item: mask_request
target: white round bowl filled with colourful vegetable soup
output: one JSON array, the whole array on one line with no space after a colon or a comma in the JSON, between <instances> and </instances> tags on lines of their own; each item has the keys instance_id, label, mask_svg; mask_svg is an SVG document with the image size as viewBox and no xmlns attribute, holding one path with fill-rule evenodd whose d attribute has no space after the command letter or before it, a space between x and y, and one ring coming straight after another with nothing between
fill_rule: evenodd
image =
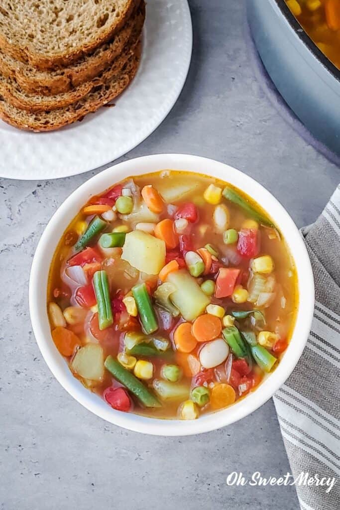
<instances>
[{"instance_id":1,"label":"white round bowl filled with colourful vegetable soup","mask_svg":"<svg viewBox=\"0 0 340 510\"><path fill-rule=\"evenodd\" d=\"M35 337L61 385L157 435L213 430L266 402L303 351L313 296L279 202L189 155L125 161L75 190L30 277Z\"/></svg>"}]
</instances>

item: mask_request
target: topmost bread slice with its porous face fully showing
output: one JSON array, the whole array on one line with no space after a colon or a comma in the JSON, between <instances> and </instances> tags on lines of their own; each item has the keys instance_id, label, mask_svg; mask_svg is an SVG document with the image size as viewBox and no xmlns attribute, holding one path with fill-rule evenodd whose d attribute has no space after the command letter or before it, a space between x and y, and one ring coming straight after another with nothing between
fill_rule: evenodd
<instances>
[{"instance_id":1,"label":"topmost bread slice with its porous face fully showing","mask_svg":"<svg viewBox=\"0 0 340 510\"><path fill-rule=\"evenodd\" d=\"M42 69L68 66L109 41L137 0L1 0L0 49Z\"/></svg>"}]
</instances>

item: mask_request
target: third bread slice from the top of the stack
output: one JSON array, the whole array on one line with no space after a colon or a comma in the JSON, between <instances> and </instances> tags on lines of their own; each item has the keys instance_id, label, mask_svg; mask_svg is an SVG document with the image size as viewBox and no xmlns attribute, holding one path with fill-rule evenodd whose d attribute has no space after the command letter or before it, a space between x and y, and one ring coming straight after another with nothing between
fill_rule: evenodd
<instances>
[{"instance_id":1,"label":"third bread slice from the top of the stack","mask_svg":"<svg viewBox=\"0 0 340 510\"><path fill-rule=\"evenodd\" d=\"M12 78L4 78L0 75L0 95L2 95L10 105L29 112L41 112L44 110L57 110L58 108L64 108L85 97L94 87L103 84L105 85L116 77L129 57L134 54L139 37L140 30L133 31L129 43L125 46L121 55L113 61L110 67L100 73L100 75L93 80L85 82L69 92L53 96L31 95L22 92L16 81Z\"/></svg>"}]
</instances>

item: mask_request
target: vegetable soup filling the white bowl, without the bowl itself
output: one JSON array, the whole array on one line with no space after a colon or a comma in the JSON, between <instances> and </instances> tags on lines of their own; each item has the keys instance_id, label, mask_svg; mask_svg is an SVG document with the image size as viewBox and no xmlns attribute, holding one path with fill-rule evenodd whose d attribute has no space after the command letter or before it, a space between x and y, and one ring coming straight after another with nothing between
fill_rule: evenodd
<instances>
[{"instance_id":1,"label":"vegetable soup filling the white bowl, without the bowl itself","mask_svg":"<svg viewBox=\"0 0 340 510\"><path fill-rule=\"evenodd\" d=\"M93 196L49 273L51 336L72 374L114 409L157 418L195 419L254 391L297 309L293 260L261 206L172 170Z\"/></svg>"}]
</instances>

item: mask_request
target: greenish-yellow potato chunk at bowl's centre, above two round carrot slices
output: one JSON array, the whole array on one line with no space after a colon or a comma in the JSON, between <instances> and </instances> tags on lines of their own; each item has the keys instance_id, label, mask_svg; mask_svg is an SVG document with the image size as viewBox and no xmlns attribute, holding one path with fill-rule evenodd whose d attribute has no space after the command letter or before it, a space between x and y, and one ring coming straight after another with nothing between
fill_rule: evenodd
<instances>
[{"instance_id":1,"label":"greenish-yellow potato chunk at bowl's centre, above two round carrot slices","mask_svg":"<svg viewBox=\"0 0 340 510\"><path fill-rule=\"evenodd\" d=\"M195 320L210 303L208 296L186 269L170 273L167 282L176 287L170 299L187 321Z\"/></svg>"}]
</instances>

